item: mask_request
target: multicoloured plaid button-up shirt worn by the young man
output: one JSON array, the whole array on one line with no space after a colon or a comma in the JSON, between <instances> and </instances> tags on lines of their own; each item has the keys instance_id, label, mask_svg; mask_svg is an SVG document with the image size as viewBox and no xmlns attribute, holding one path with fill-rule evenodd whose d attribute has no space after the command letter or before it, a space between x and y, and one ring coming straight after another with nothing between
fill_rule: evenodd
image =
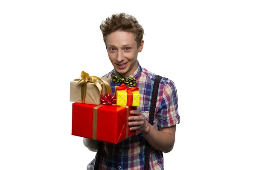
<instances>
[{"instance_id":1,"label":"multicoloured plaid button-up shirt worn by the young man","mask_svg":"<svg viewBox=\"0 0 256 170\"><path fill-rule=\"evenodd\" d=\"M139 64L139 62L138 62ZM112 91L115 91L116 85L112 81L112 75L122 77L113 69L111 72L103 77L110 77L110 85ZM129 77L135 77L137 87L140 89L140 106L137 110L142 112L145 119L148 121L151 93L153 91L154 80L156 74L153 74L142 68L139 64L137 70ZM158 98L156 104L156 112L154 116L153 125L156 129L160 127L170 127L180 123L180 116L177 111L178 98L174 83L163 77L160 81ZM99 169L100 170L141 170L144 167L144 149L145 143L143 141L143 134L138 132L136 135L128 137L117 144L103 142L104 149L100 156ZM150 148L150 169L163 170L163 154L154 148ZM95 159L94 159L95 160ZM91 161L87 170L93 170L94 160Z\"/></svg>"}]
</instances>

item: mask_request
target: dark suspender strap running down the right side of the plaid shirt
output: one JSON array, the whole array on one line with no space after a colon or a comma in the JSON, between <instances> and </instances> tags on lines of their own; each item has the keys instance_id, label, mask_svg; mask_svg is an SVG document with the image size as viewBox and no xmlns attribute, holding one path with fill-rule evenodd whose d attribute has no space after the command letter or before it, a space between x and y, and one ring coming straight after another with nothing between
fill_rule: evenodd
<instances>
[{"instance_id":1,"label":"dark suspender strap running down the right side of the plaid shirt","mask_svg":"<svg viewBox=\"0 0 256 170\"><path fill-rule=\"evenodd\" d=\"M153 120L154 120L154 113L155 113L156 104L157 104L158 88L159 88L159 83L160 83L161 79L162 79L162 77L157 75L157 77L154 81L154 85L153 85L150 111L149 111L149 119L148 119L148 123L150 123L151 125L153 124ZM147 140L145 140L145 153L144 154L145 154L144 170L149 170L150 144L148 143Z\"/></svg>"}]
</instances>

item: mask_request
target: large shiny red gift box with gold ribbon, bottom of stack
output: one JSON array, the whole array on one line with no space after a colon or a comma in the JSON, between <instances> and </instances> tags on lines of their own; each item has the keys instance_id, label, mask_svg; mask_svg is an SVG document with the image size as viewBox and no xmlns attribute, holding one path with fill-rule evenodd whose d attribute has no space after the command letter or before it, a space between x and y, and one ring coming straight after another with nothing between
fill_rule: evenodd
<instances>
[{"instance_id":1,"label":"large shiny red gift box with gold ribbon, bottom of stack","mask_svg":"<svg viewBox=\"0 0 256 170\"><path fill-rule=\"evenodd\" d=\"M136 107L73 103L72 135L118 143L135 134L129 130L128 116Z\"/></svg>"}]
</instances>

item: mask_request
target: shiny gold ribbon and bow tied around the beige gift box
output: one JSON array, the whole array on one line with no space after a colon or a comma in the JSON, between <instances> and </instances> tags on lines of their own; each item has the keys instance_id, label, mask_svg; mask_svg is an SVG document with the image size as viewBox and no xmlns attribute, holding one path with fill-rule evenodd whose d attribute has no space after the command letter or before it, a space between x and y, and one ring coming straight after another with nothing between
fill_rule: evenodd
<instances>
[{"instance_id":1,"label":"shiny gold ribbon and bow tied around the beige gift box","mask_svg":"<svg viewBox=\"0 0 256 170\"><path fill-rule=\"evenodd\" d=\"M107 88L108 93L112 93L111 87L108 84L108 82L106 82L105 80L96 77L96 76L90 76L88 73L82 71L81 72L81 79L74 79L74 81L78 81L79 85L81 85L81 100L82 103L85 102L85 98L86 98L86 91L87 91L87 84L89 82L95 84L99 90L99 94L101 94L102 92L102 87L99 84L99 82L97 80L101 80L104 84L105 87Z\"/></svg>"}]
</instances>

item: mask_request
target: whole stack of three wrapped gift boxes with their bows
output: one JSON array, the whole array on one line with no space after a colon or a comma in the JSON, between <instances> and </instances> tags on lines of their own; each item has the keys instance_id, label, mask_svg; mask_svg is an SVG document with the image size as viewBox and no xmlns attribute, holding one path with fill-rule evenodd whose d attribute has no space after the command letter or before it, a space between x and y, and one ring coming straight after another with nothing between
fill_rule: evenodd
<instances>
[{"instance_id":1,"label":"whole stack of three wrapped gift boxes with their bows","mask_svg":"<svg viewBox=\"0 0 256 170\"><path fill-rule=\"evenodd\" d=\"M70 82L72 104L72 135L118 143L135 134L130 131L130 111L140 104L137 87L116 86L112 93L110 78L81 76Z\"/></svg>"}]
</instances>

